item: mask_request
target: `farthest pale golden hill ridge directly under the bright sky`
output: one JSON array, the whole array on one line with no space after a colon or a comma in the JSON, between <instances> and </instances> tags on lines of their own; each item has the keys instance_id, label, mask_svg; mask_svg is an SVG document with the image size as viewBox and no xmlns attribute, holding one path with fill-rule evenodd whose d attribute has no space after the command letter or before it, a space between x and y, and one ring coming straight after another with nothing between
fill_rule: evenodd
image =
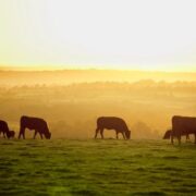
<instances>
[{"instance_id":1,"label":"farthest pale golden hill ridge directly under the bright sky","mask_svg":"<svg viewBox=\"0 0 196 196\"><path fill-rule=\"evenodd\" d=\"M196 73L120 70L0 71L0 85L68 85L90 82L196 81Z\"/></svg>"}]
</instances>

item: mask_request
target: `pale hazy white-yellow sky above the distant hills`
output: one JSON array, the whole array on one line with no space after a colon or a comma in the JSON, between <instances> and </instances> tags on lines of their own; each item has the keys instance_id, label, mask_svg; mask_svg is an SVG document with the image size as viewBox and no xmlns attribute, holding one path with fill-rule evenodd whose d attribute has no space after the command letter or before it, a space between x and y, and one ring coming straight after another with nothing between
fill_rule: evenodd
<instances>
[{"instance_id":1,"label":"pale hazy white-yellow sky above the distant hills","mask_svg":"<svg viewBox=\"0 0 196 196\"><path fill-rule=\"evenodd\" d=\"M195 9L195 0L0 0L0 65L196 71Z\"/></svg>"}]
</instances>

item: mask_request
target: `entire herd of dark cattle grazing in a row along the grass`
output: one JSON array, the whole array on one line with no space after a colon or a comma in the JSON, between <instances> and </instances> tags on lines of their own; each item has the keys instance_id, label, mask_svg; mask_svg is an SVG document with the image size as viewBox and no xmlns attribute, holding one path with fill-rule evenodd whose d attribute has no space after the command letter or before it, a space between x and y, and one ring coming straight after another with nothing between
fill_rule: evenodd
<instances>
[{"instance_id":1,"label":"entire herd of dark cattle grazing in a row along the grass","mask_svg":"<svg viewBox=\"0 0 196 196\"><path fill-rule=\"evenodd\" d=\"M47 122L44 119L32 118L23 115L20 122L20 133L19 138L25 138L25 130L35 131L34 138L39 134L40 137L45 136L47 139L51 138L51 133L49 132ZM95 138L97 138L98 133L100 133L101 138L103 138L103 130L114 130L117 138L119 138L119 133L123 135L124 139L131 138L131 131L128 130L125 121L117 117L100 117L97 119L97 128ZM12 138L15 136L15 132L11 131L5 121L0 120L0 135L3 134L3 137ZM170 139L173 144L173 138L177 138L179 144L181 144L181 137L186 136L186 139L189 139L189 135L195 135L196 144L196 118L192 117L180 117L174 115L172 118L172 128L167 131L163 139Z\"/></svg>"}]
</instances>

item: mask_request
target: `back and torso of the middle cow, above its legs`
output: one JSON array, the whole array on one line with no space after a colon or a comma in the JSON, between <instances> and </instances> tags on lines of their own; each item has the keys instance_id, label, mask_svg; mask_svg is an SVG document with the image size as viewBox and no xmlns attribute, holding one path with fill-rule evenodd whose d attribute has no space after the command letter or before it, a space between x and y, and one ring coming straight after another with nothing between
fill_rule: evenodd
<instances>
[{"instance_id":1,"label":"back and torso of the middle cow, above its legs","mask_svg":"<svg viewBox=\"0 0 196 196\"><path fill-rule=\"evenodd\" d=\"M117 117L100 117L97 119L97 126L108 130L127 130L124 120Z\"/></svg>"}]
</instances>

